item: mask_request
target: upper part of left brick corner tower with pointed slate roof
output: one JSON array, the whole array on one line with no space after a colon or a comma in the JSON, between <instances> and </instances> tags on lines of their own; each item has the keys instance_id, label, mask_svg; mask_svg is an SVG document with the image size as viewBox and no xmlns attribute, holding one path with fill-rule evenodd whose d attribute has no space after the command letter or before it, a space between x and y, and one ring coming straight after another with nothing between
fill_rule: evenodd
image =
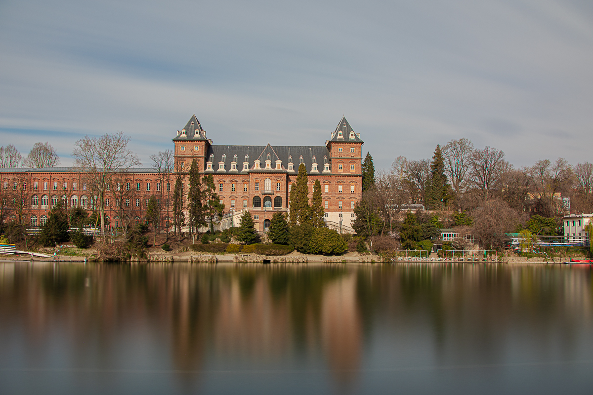
<instances>
[{"instance_id":1,"label":"upper part of left brick corner tower with pointed slate roof","mask_svg":"<svg viewBox=\"0 0 593 395\"><path fill-rule=\"evenodd\" d=\"M204 160L208 147L212 144L211 140L206 139L206 131L193 114L186 126L177 131L177 136L173 139L175 144L175 169L176 171L187 171L195 159L200 171L204 169Z\"/></svg>"}]
</instances>

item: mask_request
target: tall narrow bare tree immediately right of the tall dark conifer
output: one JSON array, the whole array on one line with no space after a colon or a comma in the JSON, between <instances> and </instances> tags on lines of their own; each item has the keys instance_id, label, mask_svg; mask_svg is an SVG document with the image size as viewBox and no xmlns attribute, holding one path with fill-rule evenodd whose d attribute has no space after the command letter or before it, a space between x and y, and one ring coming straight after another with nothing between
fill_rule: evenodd
<instances>
[{"instance_id":1,"label":"tall narrow bare tree immediately right of the tall dark conifer","mask_svg":"<svg viewBox=\"0 0 593 395\"><path fill-rule=\"evenodd\" d=\"M445 173L455 194L466 191L471 182L471 159L474 153L474 144L466 139L451 140L443 149L445 159Z\"/></svg>"}]
</instances>

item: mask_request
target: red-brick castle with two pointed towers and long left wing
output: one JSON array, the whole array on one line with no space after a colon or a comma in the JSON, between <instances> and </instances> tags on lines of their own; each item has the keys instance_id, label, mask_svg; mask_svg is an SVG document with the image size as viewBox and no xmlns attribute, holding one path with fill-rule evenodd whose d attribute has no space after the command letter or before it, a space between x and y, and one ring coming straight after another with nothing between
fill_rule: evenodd
<instances>
[{"instance_id":1,"label":"red-brick castle with two pointed towers and long left wing","mask_svg":"<svg viewBox=\"0 0 593 395\"><path fill-rule=\"evenodd\" d=\"M291 185L297 179L299 165L304 163L309 197L315 180L321 183L327 223L334 227L342 224L343 230L350 228L355 217L353 208L362 197L364 142L345 117L329 133L330 139L318 146L216 145L206 137L196 115L175 134L175 168L186 172L192 160L196 160L203 174L213 175L216 192L225 205L222 227L238 226L238 216L247 209L257 229L267 230L276 211L289 210ZM28 200L24 211L31 227L43 225L51 206L60 199L68 201L70 207L89 208L91 204L84 174L71 168L0 169L0 177L5 192L24 189L23 199ZM120 179L130 190L121 204L129 206L136 222L144 216L152 194L171 190L170 185L161 186L157 172L151 168L131 169ZM110 227L121 226L115 201L113 197L105 202L106 223Z\"/></svg>"}]
</instances>

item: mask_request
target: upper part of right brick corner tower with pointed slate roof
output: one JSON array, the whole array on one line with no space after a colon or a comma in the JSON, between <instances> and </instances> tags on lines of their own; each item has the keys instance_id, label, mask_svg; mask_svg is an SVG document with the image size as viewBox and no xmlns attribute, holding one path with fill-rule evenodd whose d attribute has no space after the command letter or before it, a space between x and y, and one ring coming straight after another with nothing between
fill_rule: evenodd
<instances>
[{"instance_id":1,"label":"upper part of right brick corner tower with pointed slate roof","mask_svg":"<svg viewBox=\"0 0 593 395\"><path fill-rule=\"evenodd\" d=\"M337 124L331 133L326 147L330 152L332 174L362 174L362 144L361 134L355 133L346 117Z\"/></svg>"}]
</instances>

